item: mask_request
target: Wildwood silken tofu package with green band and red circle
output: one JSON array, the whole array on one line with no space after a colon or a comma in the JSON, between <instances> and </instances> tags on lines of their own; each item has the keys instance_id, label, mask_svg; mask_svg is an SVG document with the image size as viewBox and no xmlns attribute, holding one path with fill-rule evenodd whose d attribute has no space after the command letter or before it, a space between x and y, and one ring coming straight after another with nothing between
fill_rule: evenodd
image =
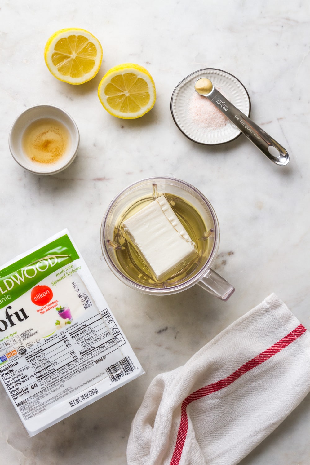
<instances>
[{"instance_id":1,"label":"Wildwood silken tofu package with green band and red circle","mask_svg":"<svg viewBox=\"0 0 310 465\"><path fill-rule=\"evenodd\" d=\"M67 230L0 269L0 379L30 436L144 371Z\"/></svg>"}]
</instances>

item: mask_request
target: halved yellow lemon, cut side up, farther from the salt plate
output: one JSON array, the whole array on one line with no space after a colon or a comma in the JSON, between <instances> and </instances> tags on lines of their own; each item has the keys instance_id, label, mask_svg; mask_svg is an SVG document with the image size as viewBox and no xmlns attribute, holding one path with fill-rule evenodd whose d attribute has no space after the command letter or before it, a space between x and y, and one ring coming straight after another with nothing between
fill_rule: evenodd
<instances>
[{"instance_id":1,"label":"halved yellow lemon, cut side up, farther from the salt plate","mask_svg":"<svg viewBox=\"0 0 310 465\"><path fill-rule=\"evenodd\" d=\"M55 78L69 84L83 84L98 73L102 47L85 29L61 29L47 40L44 60Z\"/></svg>"}]
</instances>

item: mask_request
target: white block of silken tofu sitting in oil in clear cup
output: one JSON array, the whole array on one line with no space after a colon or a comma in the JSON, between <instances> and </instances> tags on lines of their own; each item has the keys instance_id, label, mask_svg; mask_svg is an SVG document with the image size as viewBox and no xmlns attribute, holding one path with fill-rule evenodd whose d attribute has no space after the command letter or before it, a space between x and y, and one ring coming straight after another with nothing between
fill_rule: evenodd
<instances>
[{"instance_id":1,"label":"white block of silken tofu sitting in oil in clear cup","mask_svg":"<svg viewBox=\"0 0 310 465\"><path fill-rule=\"evenodd\" d=\"M196 251L184 226L163 195L123 222L125 233L158 281L168 279Z\"/></svg>"}]
</instances>

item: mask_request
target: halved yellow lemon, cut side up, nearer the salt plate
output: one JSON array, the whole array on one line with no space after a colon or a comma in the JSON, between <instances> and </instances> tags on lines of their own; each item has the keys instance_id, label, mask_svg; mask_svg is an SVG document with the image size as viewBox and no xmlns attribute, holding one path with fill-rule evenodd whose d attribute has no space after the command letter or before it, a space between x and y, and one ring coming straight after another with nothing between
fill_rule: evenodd
<instances>
[{"instance_id":1,"label":"halved yellow lemon, cut side up, nearer the salt plate","mask_svg":"<svg viewBox=\"0 0 310 465\"><path fill-rule=\"evenodd\" d=\"M129 120L151 110L156 90L151 74L143 66L124 63L114 66L104 75L98 96L107 112Z\"/></svg>"}]
</instances>

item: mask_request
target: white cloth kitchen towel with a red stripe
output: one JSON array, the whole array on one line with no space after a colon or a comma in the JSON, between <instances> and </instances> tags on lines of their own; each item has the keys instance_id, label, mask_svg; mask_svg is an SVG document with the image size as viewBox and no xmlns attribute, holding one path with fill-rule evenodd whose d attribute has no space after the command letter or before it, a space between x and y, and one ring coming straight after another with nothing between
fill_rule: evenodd
<instances>
[{"instance_id":1,"label":"white cloth kitchen towel with a red stripe","mask_svg":"<svg viewBox=\"0 0 310 465\"><path fill-rule=\"evenodd\" d=\"M153 379L132 421L128 464L237 464L309 391L310 333L271 294Z\"/></svg>"}]
</instances>

